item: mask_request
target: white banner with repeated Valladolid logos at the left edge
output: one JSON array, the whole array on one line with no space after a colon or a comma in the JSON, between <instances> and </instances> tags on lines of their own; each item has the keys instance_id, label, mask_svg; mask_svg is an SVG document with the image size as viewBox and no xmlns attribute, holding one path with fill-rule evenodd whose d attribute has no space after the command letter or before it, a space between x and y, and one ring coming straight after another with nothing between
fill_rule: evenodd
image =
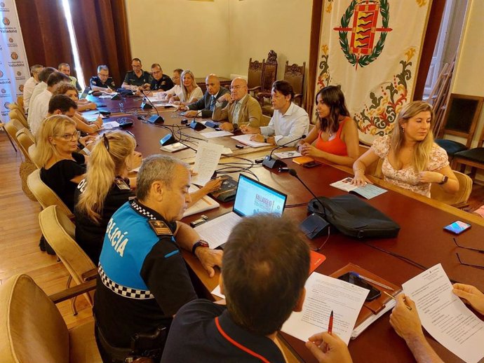
<instances>
[{"instance_id":1,"label":"white banner with repeated Valladolid logos at the left edge","mask_svg":"<svg viewBox=\"0 0 484 363\"><path fill-rule=\"evenodd\" d=\"M23 93L30 77L15 0L0 0L0 121L8 121L8 104Z\"/></svg>"}]
</instances>

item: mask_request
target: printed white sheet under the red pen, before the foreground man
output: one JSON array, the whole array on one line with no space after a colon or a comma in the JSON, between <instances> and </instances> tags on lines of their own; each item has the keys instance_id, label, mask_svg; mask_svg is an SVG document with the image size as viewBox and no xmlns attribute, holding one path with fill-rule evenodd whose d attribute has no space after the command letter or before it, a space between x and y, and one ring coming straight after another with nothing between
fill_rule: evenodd
<instances>
[{"instance_id":1,"label":"printed white sheet under the red pen, before the foreground man","mask_svg":"<svg viewBox=\"0 0 484 363\"><path fill-rule=\"evenodd\" d=\"M358 314L370 290L321 273L312 273L305 287L306 299L302 311L293 312L281 330L307 341L309 336L328 330L332 310L332 331L348 344Z\"/></svg>"}]
</instances>

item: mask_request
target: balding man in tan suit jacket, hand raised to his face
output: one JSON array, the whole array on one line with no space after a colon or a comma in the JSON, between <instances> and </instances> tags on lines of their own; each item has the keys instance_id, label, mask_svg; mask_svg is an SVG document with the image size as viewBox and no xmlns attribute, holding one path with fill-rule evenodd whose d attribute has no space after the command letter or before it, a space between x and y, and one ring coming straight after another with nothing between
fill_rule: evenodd
<instances>
[{"instance_id":1,"label":"balding man in tan suit jacket, hand raised to his face","mask_svg":"<svg viewBox=\"0 0 484 363\"><path fill-rule=\"evenodd\" d=\"M229 102L223 106L222 102ZM217 100L213 111L213 120L229 121L220 125L222 130L234 131L241 125L250 125L258 128L262 121L262 109L259 102L248 94L247 81L243 78L234 78L230 85L230 95L223 95Z\"/></svg>"}]
</instances>

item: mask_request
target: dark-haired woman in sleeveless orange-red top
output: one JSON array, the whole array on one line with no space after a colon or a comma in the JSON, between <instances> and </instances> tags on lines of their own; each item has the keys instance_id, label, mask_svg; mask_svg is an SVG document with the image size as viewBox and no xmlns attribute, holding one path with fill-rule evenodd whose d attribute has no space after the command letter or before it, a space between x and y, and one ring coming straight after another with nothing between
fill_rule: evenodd
<instances>
[{"instance_id":1,"label":"dark-haired woman in sleeveless orange-red top","mask_svg":"<svg viewBox=\"0 0 484 363\"><path fill-rule=\"evenodd\" d=\"M316 112L316 127L299 142L297 149L304 156L353 165L359 156L358 128L349 117L340 86L328 85L318 92Z\"/></svg>"}]
</instances>

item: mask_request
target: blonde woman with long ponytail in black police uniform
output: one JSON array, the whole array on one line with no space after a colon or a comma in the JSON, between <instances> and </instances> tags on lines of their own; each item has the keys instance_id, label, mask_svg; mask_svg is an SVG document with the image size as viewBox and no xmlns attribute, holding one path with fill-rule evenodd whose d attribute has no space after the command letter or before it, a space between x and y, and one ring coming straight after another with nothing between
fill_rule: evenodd
<instances>
[{"instance_id":1,"label":"blonde woman with long ponytail in black police uniform","mask_svg":"<svg viewBox=\"0 0 484 363\"><path fill-rule=\"evenodd\" d=\"M75 192L76 242L98 264L106 227L121 205L134 196L135 179L128 170L141 163L134 137L123 131L106 132L90 153L86 178Z\"/></svg>"}]
</instances>

